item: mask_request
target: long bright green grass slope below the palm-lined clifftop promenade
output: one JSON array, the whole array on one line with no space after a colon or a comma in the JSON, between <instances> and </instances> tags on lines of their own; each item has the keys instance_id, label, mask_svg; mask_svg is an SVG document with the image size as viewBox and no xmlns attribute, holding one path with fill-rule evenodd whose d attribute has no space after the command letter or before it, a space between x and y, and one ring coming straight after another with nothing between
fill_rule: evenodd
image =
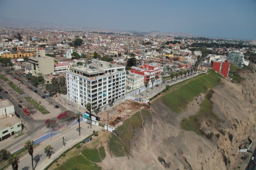
<instances>
[{"instance_id":1,"label":"long bright green grass slope below the palm-lined clifftop promenade","mask_svg":"<svg viewBox=\"0 0 256 170\"><path fill-rule=\"evenodd\" d=\"M162 96L161 99L173 112L179 113L186 109L186 104L192 101L195 96L206 93L208 88L212 89L220 83L220 78L216 74L213 71L204 74L184 84L178 90Z\"/></svg>"}]
</instances>

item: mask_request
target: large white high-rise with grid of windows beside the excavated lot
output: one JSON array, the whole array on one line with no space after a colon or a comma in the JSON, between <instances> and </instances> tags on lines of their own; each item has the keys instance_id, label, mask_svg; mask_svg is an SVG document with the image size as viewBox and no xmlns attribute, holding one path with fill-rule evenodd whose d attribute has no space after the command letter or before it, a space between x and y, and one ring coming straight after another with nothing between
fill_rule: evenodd
<instances>
[{"instance_id":1,"label":"large white high-rise with grid of windows beside the excavated lot","mask_svg":"<svg viewBox=\"0 0 256 170\"><path fill-rule=\"evenodd\" d=\"M67 96L70 101L99 109L125 95L125 66L97 61L67 71Z\"/></svg>"}]
</instances>

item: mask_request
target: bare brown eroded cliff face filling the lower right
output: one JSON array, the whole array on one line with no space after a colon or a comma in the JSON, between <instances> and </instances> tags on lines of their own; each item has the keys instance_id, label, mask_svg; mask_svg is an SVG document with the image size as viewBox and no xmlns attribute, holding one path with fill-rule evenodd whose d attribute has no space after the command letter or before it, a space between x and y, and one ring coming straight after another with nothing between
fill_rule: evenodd
<instances>
[{"instance_id":1,"label":"bare brown eroded cliff face filling the lower right","mask_svg":"<svg viewBox=\"0 0 256 170\"><path fill-rule=\"evenodd\" d=\"M182 129L181 122L199 112L206 94L200 94L179 114L172 112L161 99L153 101L150 115L142 114L143 126L134 132L132 157L114 158L118 163L109 166L110 169L233 169L241 142L255 134L256 74L248 71L239 74L243 77L241 84L221 79L213 89L210 100L215 119L205 114L196 120L200 134Z\"/></svg>"}]
</instances>

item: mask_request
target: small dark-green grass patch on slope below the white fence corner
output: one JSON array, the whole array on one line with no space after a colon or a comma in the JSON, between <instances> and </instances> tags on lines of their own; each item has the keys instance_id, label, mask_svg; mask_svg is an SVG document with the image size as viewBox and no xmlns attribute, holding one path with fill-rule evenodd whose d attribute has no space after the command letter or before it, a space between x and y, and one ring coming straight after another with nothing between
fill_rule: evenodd
<instances>
[{"instance_id":1,"label":"small dark-green grass patch on slope below the white fence corner","mask_svg":"<svg viewBox=\"0 0 256 170\"><path fill-rule=\"evenodd\" d=\"M123 126L123 125L122 125ZM115 134L111 133L108 141L109 150L114 157L123 157L126 155L125 149L126 145L122 140L116 137Z\"/></svg>"}]
</instances>

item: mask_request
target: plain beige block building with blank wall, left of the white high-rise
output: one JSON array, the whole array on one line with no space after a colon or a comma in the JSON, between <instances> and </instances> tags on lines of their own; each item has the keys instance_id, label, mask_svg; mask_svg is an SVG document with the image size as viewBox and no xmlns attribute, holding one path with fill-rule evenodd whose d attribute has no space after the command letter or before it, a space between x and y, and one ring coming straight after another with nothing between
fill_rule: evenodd
<instances>
[{"instance_id":1,"label":"plain beige block building with blank wall, left of the white high-rise","mask_svg":"<svg viewBox=\"0 0 256 170\"><path fill-rule=\"evenodd\" d=\"M54 72L54 58L49 56L44 57L29 57L29 62L31 63L31 72L33 76L41 73L52 74Z\"/></svg>"}]
</instances>

